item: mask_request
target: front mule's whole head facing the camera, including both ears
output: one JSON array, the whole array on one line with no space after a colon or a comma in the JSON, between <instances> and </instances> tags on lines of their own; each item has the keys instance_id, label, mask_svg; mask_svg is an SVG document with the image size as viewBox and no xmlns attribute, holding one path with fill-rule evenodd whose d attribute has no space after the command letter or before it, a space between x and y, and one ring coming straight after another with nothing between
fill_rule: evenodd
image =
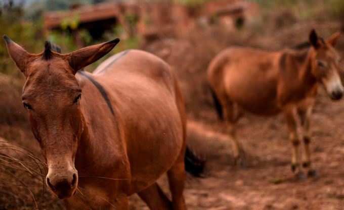
<instances>
[{"instance_id":1,"label":"front mule's whole head facing the camera, including both ears","mask_svg":"<svg viewBox=\"0 0 344 210\"><path fill-rule=\"evenodd\" d=\"M43 53L29 54L7 36L4 39L11 58L26 77L22 100L47 161L47 185L59 198L70 197L78 184L74 160L84 129L82 93L74 75L109 53L119 39L70 54L53 51L49 42Z\"/></svg>"}]
</instances>

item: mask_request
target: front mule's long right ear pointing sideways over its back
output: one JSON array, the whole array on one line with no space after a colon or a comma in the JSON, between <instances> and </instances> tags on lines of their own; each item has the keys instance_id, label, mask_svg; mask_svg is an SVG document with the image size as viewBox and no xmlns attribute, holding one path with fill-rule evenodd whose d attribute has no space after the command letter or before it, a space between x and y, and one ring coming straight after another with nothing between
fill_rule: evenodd
<instances>
[{"instance_id":1,"label":"front mule's long right ear pointing sideways over its back","mask_svg":"<svg viewBox=\"0 0 344 210\"><path fill-rule=\"evenodd\" d=\"M69 65L74 73L102 58L119 42L119 38L101 44L84 47L68 54Z\"/></svg>"}]
</instances>

